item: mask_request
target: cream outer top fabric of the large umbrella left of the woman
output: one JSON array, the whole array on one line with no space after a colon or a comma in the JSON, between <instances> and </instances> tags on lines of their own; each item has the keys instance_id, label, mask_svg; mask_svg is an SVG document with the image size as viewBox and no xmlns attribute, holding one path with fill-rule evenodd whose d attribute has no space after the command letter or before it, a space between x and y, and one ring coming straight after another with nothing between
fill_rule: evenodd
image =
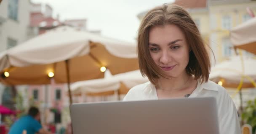
<instances>
[{"instance_id":1,"label":"cream outer top fabric of the large umbrella left of the woman","mask_svg":"<svg viewBox=\"0 0 256 134\"><path fill-rule=\"evenodd\" d=\"M10 64L15 67L49 64L88 54L90 42L102 44L110 54L116 57L136 58L134 44L78 31L69 26L60 26L30 39L9 49L6 54Z\"/></svg>"}]
</instances>

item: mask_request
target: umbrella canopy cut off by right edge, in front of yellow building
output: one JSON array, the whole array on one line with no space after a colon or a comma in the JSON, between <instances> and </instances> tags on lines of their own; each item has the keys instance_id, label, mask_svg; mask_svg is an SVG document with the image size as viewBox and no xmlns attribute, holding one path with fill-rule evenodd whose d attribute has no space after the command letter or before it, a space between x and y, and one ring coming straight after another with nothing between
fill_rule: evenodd
<instances>
[{"instance_id":1,"label":"umbrella canopy cut off by right edge, in front of yellow building","mask_svg":"<svg viewBox=\"0 0 256 134\"><path fill-rule=\"evenodd\" d=\"M230 39L235 48L256 54L256 17L242 23L230 31Z\"/></svg>"}]
</instances>

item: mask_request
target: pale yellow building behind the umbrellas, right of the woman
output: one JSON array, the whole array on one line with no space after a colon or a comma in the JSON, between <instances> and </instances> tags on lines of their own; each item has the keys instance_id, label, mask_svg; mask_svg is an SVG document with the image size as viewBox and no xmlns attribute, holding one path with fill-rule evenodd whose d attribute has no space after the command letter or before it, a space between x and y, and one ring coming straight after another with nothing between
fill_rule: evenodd
<instances>
[{"instance_id":1,"label":"pale yellow building behind the umbrellas, right of the woman","mask_svg":"<svg viewBox=\"0 0 256 134\"><path fill-rule=\"evenodd\" d=\"M216 64L235 55L229 30L251 18L246 8L256 11L255 0L209 0L210 44ZM243 51L243 54L251 55Z\"/></svg>"}]
</instances>

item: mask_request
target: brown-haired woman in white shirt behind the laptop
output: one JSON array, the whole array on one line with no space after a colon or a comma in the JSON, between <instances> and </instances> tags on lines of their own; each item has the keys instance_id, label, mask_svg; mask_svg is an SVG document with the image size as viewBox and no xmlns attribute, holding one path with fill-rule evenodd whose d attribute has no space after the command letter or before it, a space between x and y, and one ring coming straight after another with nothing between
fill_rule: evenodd
<instances>
[{"instance_id":1,"label":"brown-haired woman in white shirt behind the laptop","mask_svg":"<svg viewBox=\"0 0 256 134\"><path fill-rule=\"evenodd\" d=\"M240 134L237 110L226 90L208 80L210 59L186 10L163 5L150 10L138 35L139 67L150 82L133 87L124 101L215 97L220 134Z\"/></svg>"}]
</instances>

